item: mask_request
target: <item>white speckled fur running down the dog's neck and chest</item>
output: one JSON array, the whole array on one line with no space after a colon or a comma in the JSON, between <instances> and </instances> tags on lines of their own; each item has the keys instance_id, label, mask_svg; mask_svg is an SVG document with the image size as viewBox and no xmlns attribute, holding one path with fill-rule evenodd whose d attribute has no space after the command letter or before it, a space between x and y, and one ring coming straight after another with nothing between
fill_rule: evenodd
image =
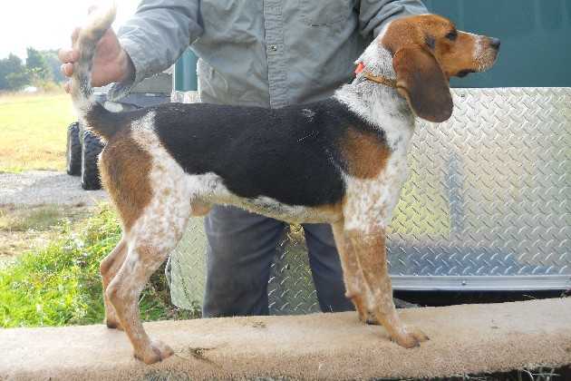
<instances>
[{"instance_id":1,"label":"white speckled fur running down the dog's neck and chest","mask_svg":"<svg viewBox=\"0 0 571 381\"><path fill-rule=\"evenodd\" d=\"M371 44L358 62L367 71L394 79L392 55L379 44ZM391 87L357 77L335 93L353 112L382 131L391 150L385 168L373 179L345 176L345 228L364 233L385 229L391 222L402 184L407 178L406 155L414 132L414 116L408 103Z\"/></svg>"}]
</instances>

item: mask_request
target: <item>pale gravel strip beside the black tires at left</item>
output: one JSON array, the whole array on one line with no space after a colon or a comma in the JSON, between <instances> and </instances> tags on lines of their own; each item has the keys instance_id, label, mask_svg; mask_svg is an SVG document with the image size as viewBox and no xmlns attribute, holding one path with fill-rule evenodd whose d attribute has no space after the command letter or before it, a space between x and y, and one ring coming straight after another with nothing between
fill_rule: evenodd
<instances>
[{"instance_id":1,"label":"pale gravel strip beside the black tires at left","mask_svg":"<svg viewBox=\"0 0 571 381\"><path fill-rule=\"evenodd\" d=\"M0 173L2 205L93 205L107 199L104 190L82 190L79 177L57 171Z\"/></svg>"}]
</instances>

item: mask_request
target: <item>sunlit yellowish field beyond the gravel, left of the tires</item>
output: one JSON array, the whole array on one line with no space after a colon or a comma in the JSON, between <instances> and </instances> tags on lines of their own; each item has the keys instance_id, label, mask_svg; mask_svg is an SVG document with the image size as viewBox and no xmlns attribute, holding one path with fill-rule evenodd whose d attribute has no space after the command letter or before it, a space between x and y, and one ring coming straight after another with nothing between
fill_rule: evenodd
<instances>
[{"instance_id":1,"label":"sunlit yellowish field beyond the gravel, left of the tires","mask_svg":"<svg viewBox=\"0 0 571 381\"><path fill-rule=\"evenodd\" d=\"M74 120L66 93L0 95L0 172L63 171Z\"/></svg>"}]
</instances>

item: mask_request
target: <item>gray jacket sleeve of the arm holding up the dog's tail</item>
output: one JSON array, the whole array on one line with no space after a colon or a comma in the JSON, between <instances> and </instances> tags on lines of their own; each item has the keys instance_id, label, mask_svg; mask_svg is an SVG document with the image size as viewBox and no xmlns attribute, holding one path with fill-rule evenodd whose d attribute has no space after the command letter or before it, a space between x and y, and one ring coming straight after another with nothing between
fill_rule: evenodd
<instances>
[{"instance_id":1,"label":"gray jacket sleeve of the arm holding up the dog's tail","mask_svg":"<svg viewBox=\"0 0 571 381\"><path fill-rule=\"evenodd\" d=\"M114 83L109 97L118 99L152 74L167 69L203 32L198 0L142 0L117 35L135 68L129 81Z\"/></svg>"}]
</instances>

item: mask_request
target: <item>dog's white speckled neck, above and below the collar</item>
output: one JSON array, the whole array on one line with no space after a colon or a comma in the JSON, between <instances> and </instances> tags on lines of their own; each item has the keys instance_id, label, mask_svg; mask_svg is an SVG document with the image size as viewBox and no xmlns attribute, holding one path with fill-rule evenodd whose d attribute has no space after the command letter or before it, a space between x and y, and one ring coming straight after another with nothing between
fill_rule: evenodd
<instances>
[{"instance_id":1,"label":"dog's white speckled neck, above and below the collar","mask_svg":"<svg viewBox=\"0 0 571 381\"><path fill-rule=\"evenodd\" d=\"M396 78L392 54L375 42L363 52L358 62L363 62L365 70L373 75ZM363 73L358 73L353 83L345 84L335 92L334 97L373 128L384 132L392 150L402 143L405 148L408 146L414 130L414 116L396 89L369 81Z\"/></svg>"}]
</instances>

